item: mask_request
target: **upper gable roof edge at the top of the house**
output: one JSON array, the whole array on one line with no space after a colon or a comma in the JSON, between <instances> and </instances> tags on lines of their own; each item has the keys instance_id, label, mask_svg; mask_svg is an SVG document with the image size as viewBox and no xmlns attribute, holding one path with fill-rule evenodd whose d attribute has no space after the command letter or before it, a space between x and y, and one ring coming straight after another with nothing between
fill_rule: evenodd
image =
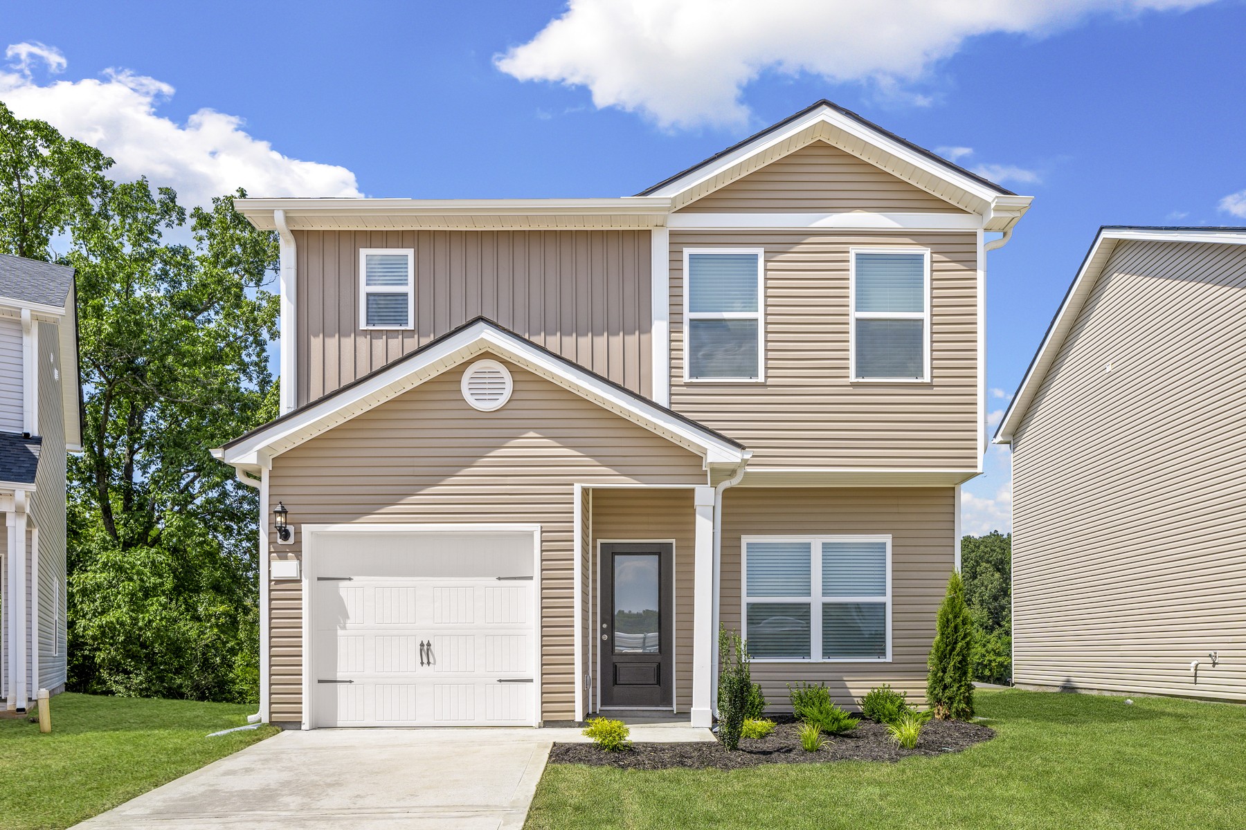
<instances>
[{"instance_id":1,"label":"upper gable roof edge at the top of the house","mask_svg":"<svg viewBox=\"0 0 1246 830\"><path fill-rule=\"evenodd\" d=\"M815 141L825 141L951 204L982 214L987 230L1007 230L1029 209L1030 197L1017 195L826 100L638 195L668 197L672 209L678 210Z\"/></svg>"}]
</instances>

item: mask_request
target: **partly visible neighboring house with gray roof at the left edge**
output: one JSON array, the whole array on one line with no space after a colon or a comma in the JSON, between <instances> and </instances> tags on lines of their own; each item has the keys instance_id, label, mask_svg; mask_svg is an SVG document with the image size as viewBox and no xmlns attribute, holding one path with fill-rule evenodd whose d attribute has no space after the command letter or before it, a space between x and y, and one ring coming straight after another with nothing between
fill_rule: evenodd
<instances>
[{"instance_id":1,"label":"partly visible neighboring house with gray roof at the left edge","mask_svg":"<svg viewBox=\"0 0 1246 830\"><path fill-rule=\"evenodd\" d=\"M65 460L81 450L74 269L0 255L0 693L65 689Z\"/></svg>"}]
</instances>

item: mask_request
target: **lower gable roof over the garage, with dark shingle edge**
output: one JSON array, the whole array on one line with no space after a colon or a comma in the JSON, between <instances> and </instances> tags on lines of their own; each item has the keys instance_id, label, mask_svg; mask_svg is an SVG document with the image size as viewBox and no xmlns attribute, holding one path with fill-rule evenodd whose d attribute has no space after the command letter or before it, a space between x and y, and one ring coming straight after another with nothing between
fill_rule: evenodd
<instances>
[{"instance_id":1,"label":"lower gable roof over the garage, with dark shingle edge","mask_svg":"<svg viewBox=\"0 0 1246 830\"><path fill-rule=\"evenodd\" d=\"M706 465L739 464L751 455L739 442L591 372L486 317L470 320L411 353L288 412L212 453L237 468L257 469L264 460L409 392L482 352L508 360L703 455Z\"/></svg>"}]
</instances>

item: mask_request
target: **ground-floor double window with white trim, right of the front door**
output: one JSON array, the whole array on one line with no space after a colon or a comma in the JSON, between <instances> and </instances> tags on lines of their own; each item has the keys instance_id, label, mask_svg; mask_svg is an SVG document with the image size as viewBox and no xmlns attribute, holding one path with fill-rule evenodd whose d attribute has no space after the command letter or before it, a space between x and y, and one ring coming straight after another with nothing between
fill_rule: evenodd
<instances>
[{"instance_id":1,"label":"ground-floor double window with white trim, right of the front door","mask_svg":"<svg viewBox=\"0 0 1246 830\"><path fill-rule=\"evenodd\" d=\"M741 541L743 627L754 660L891 660L891 536Z\"/></svg>"}]
</instances>

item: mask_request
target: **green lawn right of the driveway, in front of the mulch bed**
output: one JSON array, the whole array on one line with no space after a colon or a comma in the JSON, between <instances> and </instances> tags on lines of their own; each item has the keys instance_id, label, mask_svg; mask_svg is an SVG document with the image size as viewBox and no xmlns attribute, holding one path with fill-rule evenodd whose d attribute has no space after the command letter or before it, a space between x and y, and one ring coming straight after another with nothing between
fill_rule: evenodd
<instances>
[{"instance_id":1,"label":"green lawn right of the driveway, in front of the mulch bed","mask_svg":"<svg viewBox=\"0 0 1246 830\"><path fill-rule=\"evenodd\" d=\"M997 737L897 764L549 765L527 829L1244 828L1246 707L979 693Z\"/></svg>"}]
</instances>

